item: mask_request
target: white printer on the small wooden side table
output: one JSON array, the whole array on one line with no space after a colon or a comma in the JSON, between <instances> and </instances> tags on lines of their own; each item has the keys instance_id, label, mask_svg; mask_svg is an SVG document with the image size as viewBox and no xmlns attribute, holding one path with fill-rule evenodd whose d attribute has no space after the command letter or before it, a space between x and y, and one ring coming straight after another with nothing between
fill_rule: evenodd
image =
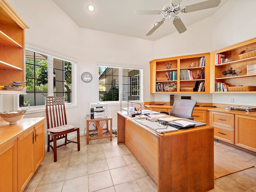
<instances>
[{"instance_id":1,"label":"white printer on the small wooden side table","mask_svg":"<svg viewBox=\"0 0 256 192\"><path fill-rule=\"evenodd\" d=\"M90 117L91 119L108 118L108 104L90 103Z\"/></svg>"}]
</instances>

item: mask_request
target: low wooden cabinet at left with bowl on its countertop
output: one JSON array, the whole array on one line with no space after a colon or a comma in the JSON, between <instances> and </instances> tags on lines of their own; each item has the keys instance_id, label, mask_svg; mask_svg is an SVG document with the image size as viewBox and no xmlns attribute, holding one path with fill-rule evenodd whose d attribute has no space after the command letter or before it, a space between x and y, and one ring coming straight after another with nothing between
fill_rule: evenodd
<instances>
[{"instance_id":1,"label":"low wooden cabinet at left with bowl on its countertop","mask_svg":"<svg viewBox=\"0 0 256 192\"><path fill-rule=\"evenodd\" d=\"M44 120L0 121L0 191L22 192L44 160Z\"/></svg>"}]
</instances>

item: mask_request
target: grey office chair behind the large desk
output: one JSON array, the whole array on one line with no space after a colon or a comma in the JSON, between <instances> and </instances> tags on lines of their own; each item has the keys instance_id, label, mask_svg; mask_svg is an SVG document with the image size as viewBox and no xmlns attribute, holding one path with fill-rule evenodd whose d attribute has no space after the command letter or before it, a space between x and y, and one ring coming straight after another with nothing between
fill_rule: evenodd
<instances>
[{"instance_id":1,"label":"grey office chair behind the large desk","mask_svg":"<svg viewBox=\"0 0 256 192\"><path fill-rule=\"evenodd\" d=\"M196 105L196 100L190 100L190 99L174 100L170 115L175 117L194 120L194 117L192 116L192 112L195 105ZM167 111L160 110L158 112L169 115Z\"/></svg>"}]
</instances>

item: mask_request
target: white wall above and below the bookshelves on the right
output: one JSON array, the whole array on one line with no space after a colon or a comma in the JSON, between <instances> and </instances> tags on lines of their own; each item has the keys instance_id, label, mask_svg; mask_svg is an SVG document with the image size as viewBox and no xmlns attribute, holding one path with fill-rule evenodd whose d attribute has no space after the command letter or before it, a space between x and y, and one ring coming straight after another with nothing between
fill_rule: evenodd
<instances>
[{"instance_id":1,"label":"white wall above and below the bookshelves on the right","mask_svg":"<svg viewBox=\"0 0 256 192\"><path fill-rule=\"evenodd\" d=\"M183 34L174 32L154 43L154 58L212 52L255 37L256 1L228 0L213 16L187 26ZM189 13L188 13L189 14ZM175 94L191 96L199 102L256 106L254 94ZM170 101L169 94L154 94L155 101Z\"/></svg>"}]
</instances>

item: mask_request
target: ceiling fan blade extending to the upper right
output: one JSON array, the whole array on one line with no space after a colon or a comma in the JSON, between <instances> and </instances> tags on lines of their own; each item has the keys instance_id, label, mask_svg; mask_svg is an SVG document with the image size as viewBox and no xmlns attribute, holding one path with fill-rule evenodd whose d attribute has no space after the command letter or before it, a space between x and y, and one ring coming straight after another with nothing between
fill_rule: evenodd
<instances>
[{"instance_id":1,"label":"ceiling fan blade extending to the upper right","mask_svg":"<svg viewBox=\"0 0 256 192\"><path fill-rule=\"evenodd\" d=\"M208 0L200 3L188 5L186 6L186 8L184 8L184 12L189 13L189 12L217 7L220 4L220 2L221 0Z\"/></svg>"}]
</instances>

